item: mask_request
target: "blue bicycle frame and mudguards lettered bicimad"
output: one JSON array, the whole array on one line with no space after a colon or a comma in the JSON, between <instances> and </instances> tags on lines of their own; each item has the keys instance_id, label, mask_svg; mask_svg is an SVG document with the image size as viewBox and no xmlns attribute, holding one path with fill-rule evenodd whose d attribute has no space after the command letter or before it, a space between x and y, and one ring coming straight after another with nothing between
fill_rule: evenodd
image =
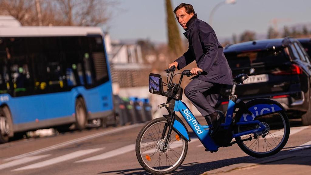
<instances>
[{"instance_id":1,"label":"blue bicycle frame and mudguards lettered bicimad","mask_svg":"<svg viewBox=\"0 0 311 175\"><path fill-rule=\"evenodd\" d=\"M224 127L225 129L229 127L229 125L232 124L232 116L235 110L236 103L232 100L229 101L227 115L225 118L225 123L221 124L221 127ZM236 122L235 125L249 125L249 124L257 124L259 127L257 129L247 130L241 133L233 134L232 138L239 137L242 135L252 134L252 133L259 133L266 129L266 126L263 125L260 121L254 120L255 117L261 116L261 115L267 115L270 113L276 113L278 111L283 111L284 109L277 104L257 104L254 105L248 110L251 112L251 114L244 113L243 117L240 118L239 122ZM187 107L187 105L180 101L176 100L174 105L174 111L178 111L182 114L184 119L187 121L188 125L191 127L193 132L197 135L198 139L201 141L201 143L204 145L207 151L217 151L220 145L217 145L214 140L209 135L209 126L208 125L200 125L200 123L197 121L195 116L193 116L190 109ZM178 116L176 116L178 117ZM188 130L184 127L180 121L174 119L171 121L174 127L174 130L177 130L179 134L181 134L184 138L188 138ZM189 140L189 139L187 139Z\"/></svg>"}]
</instances>

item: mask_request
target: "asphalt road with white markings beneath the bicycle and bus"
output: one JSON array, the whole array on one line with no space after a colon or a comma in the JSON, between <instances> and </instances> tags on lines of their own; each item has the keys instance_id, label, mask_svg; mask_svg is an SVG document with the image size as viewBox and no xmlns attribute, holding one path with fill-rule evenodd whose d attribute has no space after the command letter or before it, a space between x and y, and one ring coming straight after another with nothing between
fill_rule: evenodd
<instances>
[{"instance_id":1,"label":"asphalt road with white markings beneath the bicycle and bus","mask_svg":"<svg viewBox=\"0 0 311 175\"><path fill-rule=\"evenodd\" d=\"M204 123L202 119L199 122ZM0 174L148 174L139 165L135 155L136 137L143 125L73 131L1 144ZM310 142L310 133L311 126L292 127L285 148L277 155L288 154L289 150ZM172 174L202 174L257 159L245 154L236 144L220 148L216 153L205 152L201 145L193 137L185 161ZM295 168L295 164L290 166ZM269 170L265 172L269 174Z\"/></svg>"}]
</instances>

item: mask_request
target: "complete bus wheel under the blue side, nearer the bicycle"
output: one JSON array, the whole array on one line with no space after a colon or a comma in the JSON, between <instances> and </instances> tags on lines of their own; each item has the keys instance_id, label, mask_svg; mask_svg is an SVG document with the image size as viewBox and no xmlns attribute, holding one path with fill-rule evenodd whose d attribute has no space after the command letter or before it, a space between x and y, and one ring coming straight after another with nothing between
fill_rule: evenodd
<instances>
[{"instance_id":1,"label":"complete bus wheel under the blue side, nearer the bicycle","mask_svg":"<svg viewBox=\"0 0 311 175\"><path fill-rule=\"evenodd\" d=\"M86 128L86 107L82 98L76 100L76 129L83 130Z\"/></svg>"}]
</instances>

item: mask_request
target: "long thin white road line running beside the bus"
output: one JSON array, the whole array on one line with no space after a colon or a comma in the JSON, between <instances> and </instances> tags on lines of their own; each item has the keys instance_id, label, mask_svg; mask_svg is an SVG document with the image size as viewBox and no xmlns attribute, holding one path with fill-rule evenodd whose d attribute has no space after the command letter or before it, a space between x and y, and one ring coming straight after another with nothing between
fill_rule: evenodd
<instances>
[{"instance_id":1,"label":"long thin white road line running beside the bus","mask_svg":"<svg viewBox=\"0 0 311 175\"><path fill-rule=\"evenodd\" d=\"M55 144L55 145L52 145L52 146L49 146L49 147L46 147L46 148L43 148L43 149L38 149L36 151L32 151L32 152L29 152L29 153L25 153L25 154L21 154L21 155L17 155L17 156L11 157L11 158L7 158L4 161L10 161L10 160L15 160L15 159L19 159L19 158L24 158L24 157L27 157L27 156L41 154L41 153L44 153L44 152L47 152L47 151L51 151L51 150L54 150L54 149L58 149L58 148L61 148L61 147L65 147L65 146L68 146L68 145L79 143L79 142L82 142L82 141L85 141L85 140L94 139L96 137L101 137L101 136L104 136L104 135L114 134L116 132L123 131L123 130L128 130L128 129L135 128L135 127L138 127L138 126L141 126L141 125L145 125L145 123L123 126L123 127L120 127L120 128L116 128L116 129L112 129L112 130L96 133L96 134L93 134L93 135L88 135L88 136L85 136L85 137L81 137L81 138L78 138L78 139L69 140L67 142L63 142L63 143L60 143L60 144Z\"/></svg>"}]
</instances>

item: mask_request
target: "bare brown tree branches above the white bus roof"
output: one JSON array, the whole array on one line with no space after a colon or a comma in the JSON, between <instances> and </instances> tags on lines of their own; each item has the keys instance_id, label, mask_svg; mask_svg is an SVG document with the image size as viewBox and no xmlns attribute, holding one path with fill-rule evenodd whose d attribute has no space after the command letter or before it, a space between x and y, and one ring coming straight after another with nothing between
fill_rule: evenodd
<instances>
[{"instance_id":1,"label":"bare brown tree branches above the white bus roof","mask_svg":"<svg viewBox=\"0 0 311 175\"><path fill-rule=\"evenodd\" d=\"M43 26L104 24L115 4L112 0L39 0ZM35 0L0 0L0 15L11 15L23 26L35 26L39 25L36 7Z\"/></svg>"}]
</instances>

